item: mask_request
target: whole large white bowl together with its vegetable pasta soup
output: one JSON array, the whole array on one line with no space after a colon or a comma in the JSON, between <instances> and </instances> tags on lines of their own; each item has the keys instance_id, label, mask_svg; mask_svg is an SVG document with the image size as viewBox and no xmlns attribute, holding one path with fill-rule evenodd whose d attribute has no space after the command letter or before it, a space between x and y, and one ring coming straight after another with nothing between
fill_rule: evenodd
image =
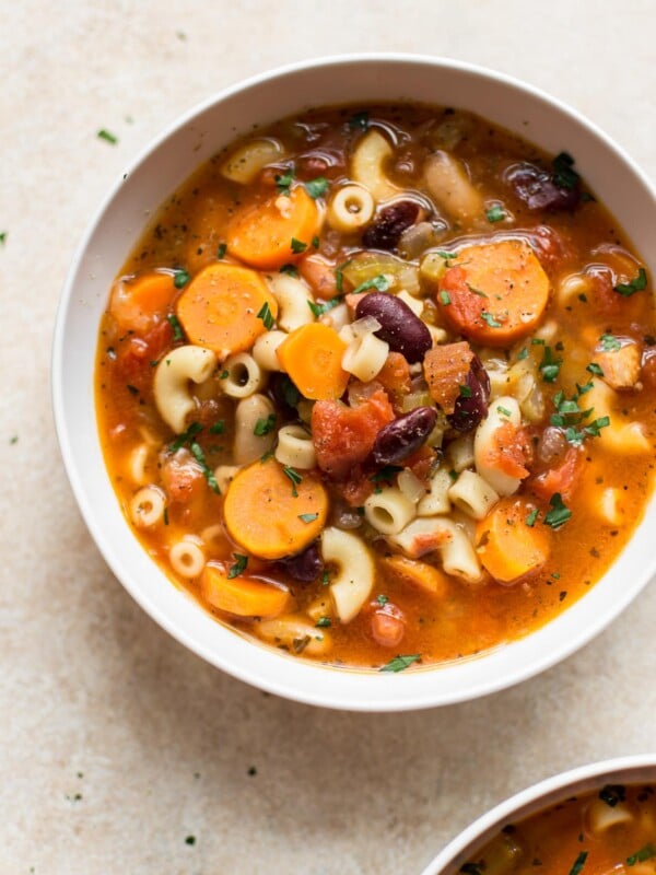
<instances>
[{"instance_id":1,"label":"whole large white bowl together with its vegetable pasta soup","mask_svg":"<svg viewBox=\"0 0 656 875\"><path fill-rule=\"evenodd\" d=\"M215 664L341 707L587 640L651 573L654 212L601 135L457 65L308 65L183 120L103 209L56 340L119 579Z\"/></svg>"}]
</instances>

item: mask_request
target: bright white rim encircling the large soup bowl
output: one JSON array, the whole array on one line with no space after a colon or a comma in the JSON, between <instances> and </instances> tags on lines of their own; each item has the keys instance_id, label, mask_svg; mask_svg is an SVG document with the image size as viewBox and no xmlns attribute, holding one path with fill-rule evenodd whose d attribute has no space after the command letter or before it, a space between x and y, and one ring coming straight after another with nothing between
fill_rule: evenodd
<instances>
[{"instance_id":1,"label":"bright white rim encircling the large soup bowl","mask_svg":"<svg viewBox=\"0 0 656 875\"><path fill-rule=\"evenodd\" d=\"M544 104L546 106L557 110L559 114L565 115L569 117L571 124L587 130L594 138L600 140L606 148L611 153L614 153L616 158L628 167L628 171L633 173L641 186L651 194L656 205L656 190L643 171L635 164L633 159L626 152L624 152L621 147L614 143L602 130L597 128L596 125L585 118L585 116L583 116L581 113L562 103L560 100L552 97L546 92L505 73L500 73L478 65L452 60L448 58L406 52L351 52L316 59L311 58L294 63L284 65L269 71L260 72L256 75L229 85L227 88L220 90L218 93L211 95L210 97L183 113L169 125L167 125L162 132L154 138L151 138L149 142L140 150L137 156L127 165L126 174L131 175L132 173L136 173L140 165L147 162L149 158L155 153L174 133L190 125L202 113L211 109L218 104L221 104L230 97L239 95L241 93L247 92L254 88L263 85L267 82L271 82L291 74L297 75L305 71L315 70L317 68L335 68L352 65L356 65L358 67L366 67L371 65L411 65L419 68L427 67L433 71L444 69L469 74L481 79L481 81L492 80L497 84L507 86L511 92L519 92L528 100L536 101L539 104ZM441 670L449 670L452 668L458 670L457 666L471 664L473 660L480 662L481 660L485 658L485 654L480 657L472 657L472 660L461 660L457 663L446 663L437 666L426 667L425 669L413 672L410 675L387 675L385 684L382 684L382 676L372 674L370 672L335 668L331 666L324 666L321 664L314 664L309 661L294 658L293 662L296 665L296 669L295 673L292 673L295 677L292 682L289 679L282 680L277 676L277 672L274 669L269 673L262 673L261 668L254 666L249 660L245 660L244 663L238 663L235 661L234 655L232 657L230 655L226 657L224 653L219 653L215 649L206 646L201 642L197 641L191 632L180 628L176 616L173 616L169 610L160 605L156 599L151 599L148 597L148 595L142 591L139 582L133 579L130 571L122 565L116 548L105 536L103 532L102 520L99 518L99 514L97 514L93 508L90 497L86 493L80 469L75 462L71 443L71 430L65 416L63 399L66 395L66 387L62 358L66 341L67 316L73 303L74 291L79 281L79 275L84 254L86 253L90 243L101 225L103 218L109 210L117 194L120 191L126 174L119 174L118 178L114 185L110 186L105 198L102 199L101 205L92 215L92 219L89 222L86 230L75 249L65 280L57 308L52 340L51 400L56 432L59 441L60 453L65 463L65 468L67 470L67 475L69 477L69 481L71 483L71 488L82 513L83 520L97 548L105 559L105 562L108 564L109 569L119 580L121 585L130 593L136 602L147 611L147 614L149 614L149 616L151 616L163 629L173 635L173 638L188 648L191 652L201 656L210 664L220 667L222 670L225 670L233 677L258 687L259 689L273 692L278 696L282 696L294 701L351 711L384 712L420 710L423 708L469 701L471 699L490 695L526 680L550 668L555 663L566 658L573 652L587 644L594 637L605 629L606 626L612 621L612 619L619 616L626 605L635 596L637 596L640 591L648 583L656 571L656 556L652 559L651 563L645 563L645 565L649 565L649 571L648 573L646 571L644 572L644 575L641 578L639 584L633 582L631 586L626 586L621 593L618 594L612 607L609 607L607 610L601 611L596 616L589 617L588 622L579 630L577 629L576 634L572 635L566 641L562 641L558 649L550 650L549 648L543 648L543 652L539 658L536 657L531 662L522 664L519 664L519 661L516 661L517 664L499 673L494 678L490 678L489 676L487 678L479 678L478 682L471 682L471 680L469 680L466 688L452 689L446 693L444 690L441 692L438 684L431 685L425 680L419 679L426 674L435 676ZM126 532L129 529L126 524ZM583 596L578 602L589 598L591 592ZM569 610L572 610L574 607L575 605L573 605ZM562 617L566 612L567 611L564 611L563 614L559 615L559 617ZM535 639L536 635L544 632L544 629L557 622L559 617L551 620L544 627L541 627L540 629L529 633L524 639L519 639L518 641L503 645L503 649L509 653L514 646L520 644L523 641L527 639ZM215 623L215 620L212 619L212 622ZM232 630L231 635L235 639L235 641L239 640L239 637L236 635ZM249 642L248 646L253 649L254 644ZM260 646L259 644L256 646L262 654L267 651L266 646ZM236 646L236 649L239 650L238 646ZM491 654L494 653L495 650L496 649L492 649L485 653ZM279 656L278 653L276 655ZM317 672L317 669L320 669L320 672ZM308 672L311 673L309 675L307 674ZM320 674L321 672L324 673L323 675ZM330 692L328 692L326 685L323 685L320 680L321 677L324 679L329 678L330 672L333 674L338 673L341 682L332 684L331 681L328 681L331 687ZM355 680L356 677L362 679L366 678L366 682L363 684L362 681ZM395 681L400 680L401 677L403 681L402 692L401 688L395 684ZM372 680L372 678L376 678L376 680Z\"/></svg>"}]
</instances>

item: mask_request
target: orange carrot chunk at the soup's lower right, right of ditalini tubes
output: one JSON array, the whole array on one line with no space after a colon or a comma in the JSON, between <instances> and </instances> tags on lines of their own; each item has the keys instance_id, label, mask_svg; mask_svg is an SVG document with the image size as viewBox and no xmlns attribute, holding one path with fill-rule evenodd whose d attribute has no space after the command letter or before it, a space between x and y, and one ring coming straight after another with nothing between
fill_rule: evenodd
<instances>
[{"instance_id":1,"label":"orange carrot chunk at the soup's lower right, right of ditalini tubes","mask_svg":"<svg viewBox=\"0 0 656 875\"><path fill-rule=\"evenodd\" d=\"M529 525L531 508L517 499L503 499L481 520L476 530L477 552L499 583L515 583L538 572L550 552L550 533Z\"/></svg>"}]
</instances>

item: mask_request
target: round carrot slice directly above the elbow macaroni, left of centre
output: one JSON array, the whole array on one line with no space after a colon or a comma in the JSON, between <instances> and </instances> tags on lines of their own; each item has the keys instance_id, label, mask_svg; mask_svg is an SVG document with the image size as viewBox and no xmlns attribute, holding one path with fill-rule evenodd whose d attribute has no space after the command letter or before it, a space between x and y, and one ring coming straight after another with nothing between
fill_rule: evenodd
<instances>
[{"instance_id":1,"label":"round carrot slice directly above the elbow macaroni, left of centre","mask_svg":"<svg viewBox=\"0 0 656 875\"><path fill-rule=\"evenodd\" d=\"M201 270L185 288L176 312L191 343L225 358L250 349L271 327L278 303L255 270L216 264Z\"/></svg>"}]
</instances>

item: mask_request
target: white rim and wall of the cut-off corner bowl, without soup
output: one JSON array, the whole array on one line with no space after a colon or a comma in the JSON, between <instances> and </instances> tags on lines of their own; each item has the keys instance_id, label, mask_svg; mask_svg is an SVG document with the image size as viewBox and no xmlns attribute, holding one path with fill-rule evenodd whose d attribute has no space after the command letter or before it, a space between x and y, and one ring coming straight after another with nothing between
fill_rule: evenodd
<instances>
[{"instance_id":1,"label":"white rim and wall of the cut-off corner bowl, without soup","mask_svg":"<svg viewBox=\"0 0 656 875\"><path fill-rule=\"evenodd\" d=\"M455 875L506 824L558 804L570 796L601 790L606 784L656 783L656 754L594 762L554 774L523 790L479 817L430 863L421 875Z\"/></svg>"}]
</instances>

